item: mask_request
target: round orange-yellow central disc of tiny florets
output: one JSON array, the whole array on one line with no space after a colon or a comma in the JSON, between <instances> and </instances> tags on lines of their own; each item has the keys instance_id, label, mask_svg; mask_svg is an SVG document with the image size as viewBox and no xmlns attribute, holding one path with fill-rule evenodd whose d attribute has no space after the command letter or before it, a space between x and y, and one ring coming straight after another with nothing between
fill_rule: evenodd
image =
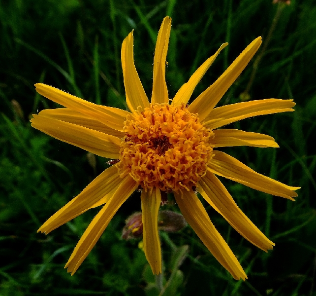
<instances>
[{"instance_id":1,"label":"round orange-yellow central disc of tiny florets","mask_svg":"<svg viewBox=\"0 0 316 296\"><path fill-rule=\"evenodd\" d=\"M124 132L118 173L129 174L145 190L190 190L212 159L214 133L185 105L139 108L127 116Z\"/></svg>"}]
</instances>

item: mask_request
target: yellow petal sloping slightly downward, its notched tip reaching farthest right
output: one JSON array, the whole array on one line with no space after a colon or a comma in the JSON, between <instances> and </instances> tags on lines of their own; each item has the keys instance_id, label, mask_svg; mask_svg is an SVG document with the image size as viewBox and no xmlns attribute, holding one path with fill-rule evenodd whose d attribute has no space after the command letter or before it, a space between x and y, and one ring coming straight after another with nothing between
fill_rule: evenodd
<instances>
[{"instance_id":1,"label":"yellow petal sloping slightly downward, its notched tip reaching farthest right","mask_svg":"<svg viewBox=\"0 0 316 296\"><path fill-rule=\"evenodd\" d=\"M214 150L213 153L212 161L208 165L208 168L212 173L244 184L253 189L285 197L290 200L294 200L292 197L297 196L297 193L292 190L297 190L300 187L288 186L258 174L236 158L224 152Z\"/></svg>"}]
</instances>

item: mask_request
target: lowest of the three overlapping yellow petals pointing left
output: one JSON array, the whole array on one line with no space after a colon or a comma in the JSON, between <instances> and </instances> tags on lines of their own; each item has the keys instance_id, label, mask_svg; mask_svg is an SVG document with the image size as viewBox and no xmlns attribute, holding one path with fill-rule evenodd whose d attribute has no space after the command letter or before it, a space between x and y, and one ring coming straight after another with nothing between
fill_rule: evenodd
<instances>
[{"instance_id":1,"label":"lowest of the three overlapping yellow petals pointing left","mask_svg":"<svg viewBox=\"0 0 316 296\"><path fill-rule=\"evenodd\" d=\"M121 140L117 137L72 123L35 115L32 127L58 140L106 158L120 157Z\"/></svg>"}]
</instances>

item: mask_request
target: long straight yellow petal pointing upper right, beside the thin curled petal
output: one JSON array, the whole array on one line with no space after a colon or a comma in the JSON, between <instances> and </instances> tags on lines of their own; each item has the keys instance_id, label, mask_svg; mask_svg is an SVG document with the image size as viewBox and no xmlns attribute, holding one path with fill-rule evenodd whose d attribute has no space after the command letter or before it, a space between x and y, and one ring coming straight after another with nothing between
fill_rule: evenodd
<instances>
[{"instance_id":1,"label":"long straight yellow petal pointing upper right, beside the thin curled petal","mask_svg":"<svg viewBox=\"0 0 316 296\"><path fill-rule=\"evenodd\" d=\"M226 71L192 102L189 111L198 113L201 121L207 117L221 100L221 97L225 94L227 89L245 69L258 50L261 42L261 37L254 39Z\"/></svg>"}]
</instances>

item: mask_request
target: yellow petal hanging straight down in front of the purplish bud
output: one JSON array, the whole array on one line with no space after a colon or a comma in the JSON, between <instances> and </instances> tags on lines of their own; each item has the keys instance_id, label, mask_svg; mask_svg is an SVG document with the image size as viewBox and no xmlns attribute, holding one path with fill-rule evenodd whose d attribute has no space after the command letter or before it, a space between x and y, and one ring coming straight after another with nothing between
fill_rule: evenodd
<instances>
[{"instance_id":1,"label":"yellow petal hanging straight down in front of the purplish bud","mask_svg":"<svg viewBox=\"0 0 316 296\"><path fill-rule=\"evenodd\" d=\"M161 202L160 189L142 191L142 222L144 252L154 274L161 273L161 250L158 235L158 211Z\"/></svg>"}]
</instances>

